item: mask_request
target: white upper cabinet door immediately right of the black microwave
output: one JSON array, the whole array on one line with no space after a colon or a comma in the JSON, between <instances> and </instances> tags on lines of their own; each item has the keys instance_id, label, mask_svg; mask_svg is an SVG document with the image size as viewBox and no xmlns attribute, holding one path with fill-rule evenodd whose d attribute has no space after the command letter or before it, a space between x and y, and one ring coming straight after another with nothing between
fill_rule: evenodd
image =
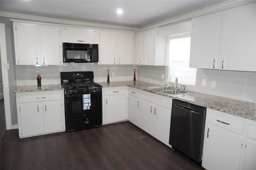
<instances>
[{"instance_id":1,"label":"white upper cabinet door immediately right of the black microwave","mask_svg":"<svg viewBox=\"0 0 256 170\"><path fill-rule=\"evenodd\" d=\"M100 64L118 64L115 31L100 32Z\"/></svg>"}]
</instances>

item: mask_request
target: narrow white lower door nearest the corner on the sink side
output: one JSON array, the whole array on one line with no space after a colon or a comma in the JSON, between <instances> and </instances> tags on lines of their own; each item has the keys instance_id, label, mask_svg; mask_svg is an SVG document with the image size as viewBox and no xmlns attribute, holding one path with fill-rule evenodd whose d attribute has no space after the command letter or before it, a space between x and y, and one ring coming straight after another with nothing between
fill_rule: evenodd
<instances>
[{"instance_id":1,"label":"narrow white lower door nearest the corner on the sink side","mask_svg":"<svg viewBox=\"0 0 256 170\"><path fill-rule=\"evenodd\" d=\"M140 126L140 99L128 96L128 120L136 126Z\"/></svg>"}]
</instances>

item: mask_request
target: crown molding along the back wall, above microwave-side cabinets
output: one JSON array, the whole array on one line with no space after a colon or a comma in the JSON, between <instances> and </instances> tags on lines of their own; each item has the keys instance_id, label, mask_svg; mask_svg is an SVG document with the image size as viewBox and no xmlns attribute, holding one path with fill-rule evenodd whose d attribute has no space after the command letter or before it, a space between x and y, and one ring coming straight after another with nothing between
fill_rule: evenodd
<instances>
[{"instance_id":1,"label":"crown molding along the back wall, above microwave-side cabinets","mask_svg":"<svg viewBox=\"0 0 256 170\"><path fill-rule=\"evenodd\" d=\"M30 20L30 21L41 21L41 22L48 22L48 23L59 23L59 24L94 27L94 28L117 29L117 30L125 30L125 31L137 30L137 28L133 28L133 27L122 27L118 25L107 25L107 24L81 22L81 21L61 20L56 18L46 18L46 17L30 16L30 15L24 15L24 14L14 14L10 12L2 12L2 11L0 11L0 16L15 18L15 19Z\"/></svg>"}]
</instances>

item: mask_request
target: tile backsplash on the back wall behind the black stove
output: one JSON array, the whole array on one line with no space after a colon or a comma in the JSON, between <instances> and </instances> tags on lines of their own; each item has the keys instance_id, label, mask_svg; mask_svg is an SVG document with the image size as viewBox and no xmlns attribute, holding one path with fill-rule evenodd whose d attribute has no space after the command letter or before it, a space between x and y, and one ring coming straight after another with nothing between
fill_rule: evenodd
<instances>
[{"instance_id":1,"label":"tile backsplash on the back wall behind the black stove","mask_svg":"<svg viewBox=\"0 0 256 170\"><path fill-rule=\"evenodd\" d=\"M64 63L60 66L22 66L16 65L17 86L37 85L39 73L44 84L60 84L60 72L93 71L94 82L106 82L108 71L110 81L133 80L134 65L98 65L96 63ZM114 76L112 76L114 72Z\"/></svg>"}]
</instances>

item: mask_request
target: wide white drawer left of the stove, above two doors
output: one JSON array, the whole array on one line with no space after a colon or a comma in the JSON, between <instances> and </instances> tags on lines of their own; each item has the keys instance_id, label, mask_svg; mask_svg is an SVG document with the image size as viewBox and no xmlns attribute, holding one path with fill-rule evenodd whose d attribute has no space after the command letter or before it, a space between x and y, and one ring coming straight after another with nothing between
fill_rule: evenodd
<instances>
[{"instance_id":1,"label":"wide white drawer left of the stove, above two doors","mask_svg":"<svg viewBox=\"0 0 256 170\"><path fill-rule=\"evenodd\" d=\"M61 94L38 94L30 96L20 96L20 103L25 102L38 102L38 101L49 101L49 100L61 100Z\"/></svg>"}]
</instances>

